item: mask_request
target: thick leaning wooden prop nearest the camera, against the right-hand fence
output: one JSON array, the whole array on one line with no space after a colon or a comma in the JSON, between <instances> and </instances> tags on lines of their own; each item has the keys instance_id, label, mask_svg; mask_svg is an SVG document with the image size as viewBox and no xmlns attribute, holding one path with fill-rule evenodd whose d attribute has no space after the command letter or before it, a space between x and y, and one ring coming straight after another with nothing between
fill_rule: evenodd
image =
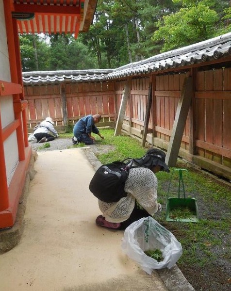
<instances>
[{"instance_id":1,"label":"thick leaning wooden prop nearest the camera, against the right-hand fence","mask_svg":"<svg viewBox=\"0 0 231 291\"><path fill-rule=\"evenodd\" d=\"M177 106L177 112L172 128L172 134L167 149L165 162L169 167L176 165L178 153L181 146L181 139L188 116L191 100L193 95L193 80L192 77L185 78L181 96Z\"/></svg>"}]
</instances>

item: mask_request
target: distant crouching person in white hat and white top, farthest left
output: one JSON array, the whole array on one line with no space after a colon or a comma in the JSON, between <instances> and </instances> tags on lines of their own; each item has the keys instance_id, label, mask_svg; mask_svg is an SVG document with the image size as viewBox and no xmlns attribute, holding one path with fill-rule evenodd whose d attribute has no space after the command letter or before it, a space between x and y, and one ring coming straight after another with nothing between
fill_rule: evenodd
<instances>
[{"instance_id":1,"label":"distant crouching person in white hat and white top, farthest left","mask_svg":"<svg viewBox=\"0 0 231 291\"><path fill-rule=\"evenodd\" d=\"M36 127L36 129L33 132L33 135L35 136L39 144L53 141L56 137L59 136L53 124L54 122L52 118L47 117L44 121L40 123L38 127Z\"/></svg>"}]
</instances>

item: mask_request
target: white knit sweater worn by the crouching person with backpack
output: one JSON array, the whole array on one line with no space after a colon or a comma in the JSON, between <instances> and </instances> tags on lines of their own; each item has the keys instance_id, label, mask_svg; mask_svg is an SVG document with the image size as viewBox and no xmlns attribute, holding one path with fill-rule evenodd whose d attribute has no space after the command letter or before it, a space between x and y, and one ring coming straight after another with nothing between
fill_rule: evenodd
<instances>
[{"instance_id":1,"label":"white knit sweater worn by the crouching person with backpack","mask_svg":"<svg viewBox=\"0 0 231 291\"><path fill-rule=\"evenodd\" d=\"M98 199L99 209L109 222L123 222L127 220L135 206L135 200L153 215L158 210L157 178L147 168L132 168L125 182L128 196L118 202L107 203Z\"/></svg>"}]
</instances>

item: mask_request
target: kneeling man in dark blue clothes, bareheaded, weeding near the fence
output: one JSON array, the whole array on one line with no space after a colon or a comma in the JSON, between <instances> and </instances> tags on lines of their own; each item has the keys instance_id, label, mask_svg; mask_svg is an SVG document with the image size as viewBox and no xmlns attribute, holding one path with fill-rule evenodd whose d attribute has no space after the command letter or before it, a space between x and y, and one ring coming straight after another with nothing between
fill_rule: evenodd
<instances>
[{"instance_id":1,"label":"kneeling man in dark blue clothes, bareheaded, weeding near the fence","mask_svg":"<svg viewBox=\"0 0 231 291\"><path fill-rule=\"evenodd\" d=\"M95 126L101 119L101 115L87 115L82 117L74 125L72 137L72 144L77 145L78 143L84 143L85 145L92 145L95 141L95 137L92 133L98 134L101 139L104 139L99 132L99 129Z\"/></svg>"}]
</instances>

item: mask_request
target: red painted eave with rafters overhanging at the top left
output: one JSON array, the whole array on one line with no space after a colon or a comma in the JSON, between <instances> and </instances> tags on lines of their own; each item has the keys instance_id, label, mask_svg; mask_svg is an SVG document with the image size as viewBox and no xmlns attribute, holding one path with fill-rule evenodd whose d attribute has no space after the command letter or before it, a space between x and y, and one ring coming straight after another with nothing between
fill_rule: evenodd
<instances>
[{"instance_id":1,"label":"red painted eave with rafters overhanging at the top left","mask_svg":"<svg viewBox=\"0 0 231 291\"><path fill-rule=\"evenodd\" d=\"M97 0L12 0L18 33L74 33L88 31Z\"/></svg>"}]
</instances>

